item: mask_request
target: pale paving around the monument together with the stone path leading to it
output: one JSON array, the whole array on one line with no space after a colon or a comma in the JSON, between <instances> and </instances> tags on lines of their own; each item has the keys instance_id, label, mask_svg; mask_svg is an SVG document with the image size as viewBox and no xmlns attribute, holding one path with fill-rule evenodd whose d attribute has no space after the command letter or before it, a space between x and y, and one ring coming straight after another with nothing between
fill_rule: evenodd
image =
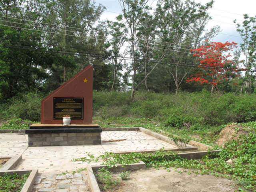
<instances>
[{"instance_id":1,"label":"pale paving around the monument together with the stone path leading to it","mask_svg":"<svg viewBox=\"0 0 256 192\"><path fill-rule=\"evenodd\" d=\"M176 148L172 144L138 131L106 131L102 132L101 140L101 145L28 147L27 135L4 133L0 134L0 156L22 155L22 160L14 169L38 169L39 176L33 192L86 192L90 191L86 172L72 174L73 171L86 168L88 165L87 162L72 161L87 157L86 152L96 157L107 151ZM109 142L111 140L122 141ZM100 162L90 163L90 165L98 164Z\"/></svg>"}]
</instances>

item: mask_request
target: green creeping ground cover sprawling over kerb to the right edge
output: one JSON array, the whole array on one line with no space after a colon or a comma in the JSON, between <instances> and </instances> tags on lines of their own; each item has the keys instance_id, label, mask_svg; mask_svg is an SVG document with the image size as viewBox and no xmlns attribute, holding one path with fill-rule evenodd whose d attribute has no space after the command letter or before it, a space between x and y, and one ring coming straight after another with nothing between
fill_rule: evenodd
<instances>
[{"instance_id":1,"label":"green creeping ground cover sprawling over kerb to the right edge","mask_svg":"<svg viewBox=\"0 0 256 192\"><path fill-rule=\"evenodd\" d=\"M242 130L236 130L236 139L227 142L218 155L209 153L201 160L183 159L176 156L176 152L164 150L149 154L106 152L95 159L101 158L102 164L108 168L116 164L132 164L139 161L145 162L147 167L164 167L167 171L170 167L183 167L191 169L188 174L213 174L216 177L235 180L240 185L239 191L256 191L256 122L238 125ZM238 132L243 134L236 135ZM229 159L232 159L232 163L227 162Z\"/></svg>"}]
</instances>

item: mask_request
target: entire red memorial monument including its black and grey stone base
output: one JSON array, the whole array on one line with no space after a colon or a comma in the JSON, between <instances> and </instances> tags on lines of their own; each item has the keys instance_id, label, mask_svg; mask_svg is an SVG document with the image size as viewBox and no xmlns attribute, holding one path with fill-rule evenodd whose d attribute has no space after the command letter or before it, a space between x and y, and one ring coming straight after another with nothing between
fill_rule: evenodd
<instances>
[{"instance_id":1,"label":"entire red memorial monument including its black and grey stone base","mask_svg":"<svg viewBox=\"0 0 256 192\"><path fill-rule=\"evenodd\" d=\"M28 146L100 144L102 129L92 124L92 74L87 66L41 101L41 123L25 131Z\"/></svg>"}]
</instances>

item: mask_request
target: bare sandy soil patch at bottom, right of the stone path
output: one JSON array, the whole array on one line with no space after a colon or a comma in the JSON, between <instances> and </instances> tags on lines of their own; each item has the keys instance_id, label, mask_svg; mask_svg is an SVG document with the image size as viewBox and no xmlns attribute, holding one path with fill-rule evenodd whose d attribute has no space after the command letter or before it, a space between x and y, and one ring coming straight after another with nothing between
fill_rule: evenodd
<instances>
[{"instance_id":1,"label":"bare sandy soil patch at bottom, right of the stone path","mask_svg":"<svg viewBox=\"0 0 256 192\"><path fill-rule=\"evenodd\" d=\"M119 186L108 192L234 192L236 184L225 178L213 175L188 174L184 168L156 170L150 168L131 172L128 180L122 180ZM181 173L179 173L181 171ZM191 171L192 172L192 171ZM113 174L118 178L118 174Z\"/></svg>"}]
</instances>

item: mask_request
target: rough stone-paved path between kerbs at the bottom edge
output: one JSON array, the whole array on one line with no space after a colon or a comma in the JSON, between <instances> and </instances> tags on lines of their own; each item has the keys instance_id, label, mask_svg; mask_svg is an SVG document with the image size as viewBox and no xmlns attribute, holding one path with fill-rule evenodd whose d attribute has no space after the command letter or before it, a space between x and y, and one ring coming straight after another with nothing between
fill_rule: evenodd
<instances>
[{"instance_id":1,"label":"rough stone-paved path between kerbs at the bottom edge","mask_svg":"<svg viewBox=\"0 0 256 192\"><path fill-rule=\"evenodd\" d=\"M90 192L86 172L57 174L39 174L32 192Z\"/></svg>"}]
</instances>

